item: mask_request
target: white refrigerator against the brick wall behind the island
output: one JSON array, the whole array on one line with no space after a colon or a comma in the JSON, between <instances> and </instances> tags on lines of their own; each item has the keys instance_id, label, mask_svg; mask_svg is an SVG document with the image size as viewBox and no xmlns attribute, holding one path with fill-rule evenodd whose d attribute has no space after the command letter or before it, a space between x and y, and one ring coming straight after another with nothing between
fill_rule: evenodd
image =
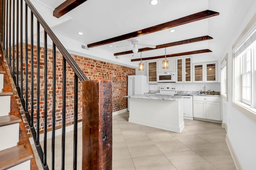
<instances>
[{"instance_id":1,"label":"white refrigerator against the brick wall behind the island","mask_svg":"<svg viewBox=\"0 0 256 170\"><path fill-rule=\"evenodd\" d=\"M133 94L144 94L149 92L149 84L147 82L147 76L136 75L128 76L128 96ZM127 103L127 110L129 111L129 98Z\"/></svg>"}]
</instances>

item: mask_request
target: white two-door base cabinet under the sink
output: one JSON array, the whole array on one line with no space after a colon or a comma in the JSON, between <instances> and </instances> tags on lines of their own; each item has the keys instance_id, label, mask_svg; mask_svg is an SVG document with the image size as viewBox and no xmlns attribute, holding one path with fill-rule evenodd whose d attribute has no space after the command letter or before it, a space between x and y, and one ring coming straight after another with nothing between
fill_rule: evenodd
<instances>
[{"instance_id":1,"label":"white two-door base cabinet under the sink","mask_svg":"<svg viewBox=\"0 0 256 170\"><path fill-rule=\"evenodd\" d=\"M220 97L194 96L193 116L202 119L220 121Z\"/></svg>"}]
</instances>

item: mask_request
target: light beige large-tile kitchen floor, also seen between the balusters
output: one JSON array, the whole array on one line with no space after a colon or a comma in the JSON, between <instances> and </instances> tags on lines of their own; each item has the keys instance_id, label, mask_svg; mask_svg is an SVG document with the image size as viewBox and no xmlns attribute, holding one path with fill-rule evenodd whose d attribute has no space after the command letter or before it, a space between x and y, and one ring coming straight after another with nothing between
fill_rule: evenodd
<instances>
[{"instance_id":1,"label":"light beige large-tile kitchen floor, also seen between the balusters","mask_svg":"<svg viewBox=\"0 0 256 170\"><path fill-rule=\"evenodd\" d=\"M226 145L226 131L218 123L184 119L184 130L175 133L129 123L128 117L129 112L113 117L113 170L236 170ZM61 135L56 136L60 139ZM82 148L82 128L78 139L78 148ZM50 140L47 148L50 167ZM65 148L65 169L71 170L73 132L66 133ZM61 169L60 150L61 144L56 143L56 170ZM81 155L78 149L78 169L82 169Z\"/></svg>"}]
</instances>

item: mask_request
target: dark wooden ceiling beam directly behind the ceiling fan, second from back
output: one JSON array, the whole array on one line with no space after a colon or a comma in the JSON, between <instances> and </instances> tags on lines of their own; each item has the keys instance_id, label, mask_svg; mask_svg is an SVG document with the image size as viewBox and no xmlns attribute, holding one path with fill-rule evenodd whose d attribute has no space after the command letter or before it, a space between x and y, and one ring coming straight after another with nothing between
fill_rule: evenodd
<instances>
[{"instance_id":1,"label":"dark wooden ceiling beam directly behind the ceiling fan, second from back","mask_svg":"<svg viewBox=\"0 0 256 170\"><path fill-rule=\"evenodd\" d=\"M150 51L150 50L155 50L155 49L162 49L162 48L166 48L166 47L172 47L172 46L183 45L183 44L188 44L188 43L195 43L195 42L205 41L205 40L209 40L209 39L213 39L213 38L206 35L206 36L202 36L202 37L191 38L191 39L186 39L186 40L182 40L182 41L176 41L174 43L156 45L156 48L154 48L154 49L152 49L152 48L142 48L142 49L139 49L138 52ZM133 53L132 50L130 50L130 51L124 51L124 52L120 52L120 53L114 53L114 56L132 54L132 53Z\"/></svg>"}]
</instances>

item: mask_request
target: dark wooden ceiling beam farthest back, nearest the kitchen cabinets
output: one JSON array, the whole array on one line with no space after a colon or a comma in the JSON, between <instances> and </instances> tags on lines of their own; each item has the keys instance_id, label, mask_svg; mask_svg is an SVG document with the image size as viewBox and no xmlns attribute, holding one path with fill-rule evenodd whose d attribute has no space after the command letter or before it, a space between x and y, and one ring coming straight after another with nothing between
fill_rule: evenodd
<instances>
[{"instance_id":1,"label":"dark wooden ceiling beam farthest back, nearest the kitchen cabinets","mask_svg":"<svg viewBox=\"0 0 256 170\"><path fill-rule=\"evenodd\" d=\"M193 54L200 54L200 53L209 53L212 52L209 49L204 49L204 50L197 50L197 51L188 51L188 52L184 52L184 53L176 53L176 54L169 54L166 55L166 58L168 57L177 57L177 56L183 56L183 55L193 55ZM146 57L146 58L142 58L141 60L154 60L154 59L162 59L165 58L164 55L161 56L156 56L156 57ZM140 59L132 59L131 61L140 61Z\"/></svg>"}]
</instances>

